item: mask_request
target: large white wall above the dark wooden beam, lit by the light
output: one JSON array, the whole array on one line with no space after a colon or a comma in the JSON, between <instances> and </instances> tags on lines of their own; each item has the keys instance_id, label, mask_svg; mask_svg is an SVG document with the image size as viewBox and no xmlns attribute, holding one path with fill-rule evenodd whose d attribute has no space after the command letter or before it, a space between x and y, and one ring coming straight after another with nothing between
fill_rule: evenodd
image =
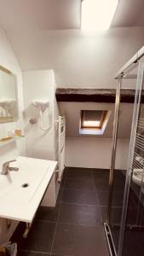
<instances>
[{"instance_id":1,"label":"large white wall above the dark wooden beam, lit by the light","mask_svg":"<svg viewBox=\"0 0 144 256\"><path fill-rule=\"evenodd\" d=\"M54 69L58 87L115 88L118 69L144 44L143 27L107 32L9 32L23 70Z\"/></svg>"}]
</instances>

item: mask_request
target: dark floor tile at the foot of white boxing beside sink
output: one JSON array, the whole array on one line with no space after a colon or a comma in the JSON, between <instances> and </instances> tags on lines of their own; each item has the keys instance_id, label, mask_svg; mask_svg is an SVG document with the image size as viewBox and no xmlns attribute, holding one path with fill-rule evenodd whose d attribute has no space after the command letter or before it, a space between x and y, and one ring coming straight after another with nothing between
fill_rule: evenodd
<instances>
[{"instance_id":1,"label":"dark floor tile at the foot of white boxing beside sink","mask_svg":"<svg viewBox=\"0 0 144 256\"><path fill-rule=\"evenodd\" d=\"M59 207L39 207L36 219L55 222L58 217L58 212Z\"/></svg>"}]
</instances>

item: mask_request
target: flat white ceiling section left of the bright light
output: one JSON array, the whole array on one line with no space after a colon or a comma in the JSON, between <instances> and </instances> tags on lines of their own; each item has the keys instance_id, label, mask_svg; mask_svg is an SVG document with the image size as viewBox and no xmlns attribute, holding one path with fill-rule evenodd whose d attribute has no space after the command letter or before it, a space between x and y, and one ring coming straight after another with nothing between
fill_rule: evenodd
<instances>
[{"instance_id":1,"label":"flat white ceiling section left of the bright light","mask_svg":"<svg viewBox=\"0 0 144 256\"><path fill-rule=\"evenodd\" d=\"M80 13L81 0L0 0L0 23L6 31L79 28Z\"/></svg>"}]
</instances>

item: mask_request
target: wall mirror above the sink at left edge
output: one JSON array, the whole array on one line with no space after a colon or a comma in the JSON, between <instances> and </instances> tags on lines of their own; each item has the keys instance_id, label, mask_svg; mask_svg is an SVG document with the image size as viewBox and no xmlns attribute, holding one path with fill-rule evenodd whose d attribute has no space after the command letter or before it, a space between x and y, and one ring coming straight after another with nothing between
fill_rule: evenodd
<instances>
[{"instance_id":1,"label":"wall mirror above the sink at left edge","mask_svg":"<svg viewBox=\"0 0 144 256\"><path fill-rule=\"evenodd\" d=\"M16 76L0 66L0 123L16 121L19 118L18 113Z\"/></svg>"}]
</instances>

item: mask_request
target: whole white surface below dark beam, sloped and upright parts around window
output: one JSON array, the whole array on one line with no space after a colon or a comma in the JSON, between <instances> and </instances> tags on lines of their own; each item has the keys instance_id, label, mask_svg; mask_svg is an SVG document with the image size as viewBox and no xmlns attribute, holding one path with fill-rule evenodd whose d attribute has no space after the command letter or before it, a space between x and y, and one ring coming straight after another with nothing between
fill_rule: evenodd
<instances>
[{"instance_id":1,"label":"whole white surface below dark beam, sloped and upright parts around window","mask_svg":"<svg viewBox=\"0 0 144 256\"><path fill-rule=\"evenodd\" d=\"M123 170L127 166L133 107L134 104L130 103L120 104L117 169ZM59 108L60 113L66 115L66 166L109 168L112 152L114 103L59 102ZM83 109L111 111L103 135L79 134L80 112Z\"/></svg>"}]
</instances>

